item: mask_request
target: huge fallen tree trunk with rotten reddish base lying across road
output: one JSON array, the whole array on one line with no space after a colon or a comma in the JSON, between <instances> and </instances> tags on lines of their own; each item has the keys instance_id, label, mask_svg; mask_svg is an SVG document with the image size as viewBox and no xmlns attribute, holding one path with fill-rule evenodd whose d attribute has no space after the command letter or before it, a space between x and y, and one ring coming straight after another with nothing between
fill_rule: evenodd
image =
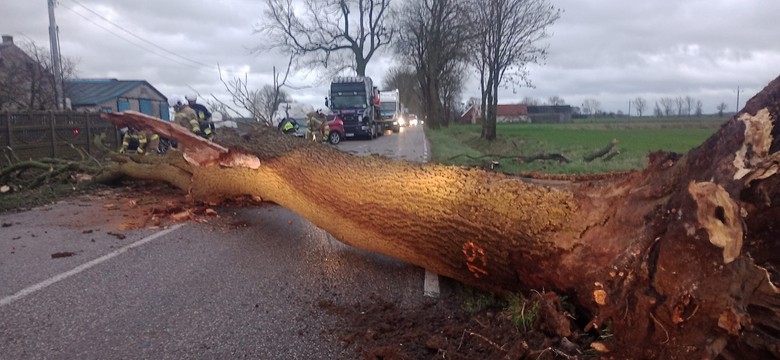
<instances>
[{"instance_id":1,"label":"huge fallen tree trunk with rotten reddish base lying across road","mask_svg":"<svg viewBox=\"0 0 780 360\"><path fill-rule=\"evenodd\" d=\"M770 279L780 256L780 78L686 155L655 153L643 171L555 187L355 157L270 129L223 132L223 147L139 113L101 116L185 143L184 154L117 163L114 173L205 201L259 196L347 244L485 290L570 295L624 356L780 357Z\"/></svg>"}]
</instances>

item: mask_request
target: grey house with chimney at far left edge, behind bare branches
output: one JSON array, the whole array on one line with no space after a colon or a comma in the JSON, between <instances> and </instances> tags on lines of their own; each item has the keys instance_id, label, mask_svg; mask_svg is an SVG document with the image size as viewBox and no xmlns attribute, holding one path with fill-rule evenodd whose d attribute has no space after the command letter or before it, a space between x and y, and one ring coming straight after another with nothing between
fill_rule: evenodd
<instances>
[{"instance_id":1,"label":"grey house with chimney at far left edge, behind bare branches","mask_svg":"<svg viewBox=\"0 0 780 360\"><path fill-rule=\"evenodd\" d=\"M43 53L28 54L3 35L0 43L0 110L48 110L57 107L54 75ZM35 57L33 57L35 56ZM37 58L37 59L36 59Z\"/></svg>"}]
</instances>

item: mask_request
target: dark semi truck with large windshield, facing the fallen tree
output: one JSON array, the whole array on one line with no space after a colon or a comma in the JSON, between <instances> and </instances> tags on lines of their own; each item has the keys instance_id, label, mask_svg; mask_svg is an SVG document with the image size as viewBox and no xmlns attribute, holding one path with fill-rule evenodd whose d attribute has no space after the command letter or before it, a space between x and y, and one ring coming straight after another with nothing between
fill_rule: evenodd
<instances>
[{"instance_id":1,"label":"dark semi truck with large windshield, facing the fallen tree","mask_svg":"<svg viewBox=\"0 0 780 360\"><path fill-rule=\"evenodd\" d=\"M333 78L325 106L343 122L345 138L375 139L382 133L379 91L368 76Z\"/></svg>"}]
</instances>

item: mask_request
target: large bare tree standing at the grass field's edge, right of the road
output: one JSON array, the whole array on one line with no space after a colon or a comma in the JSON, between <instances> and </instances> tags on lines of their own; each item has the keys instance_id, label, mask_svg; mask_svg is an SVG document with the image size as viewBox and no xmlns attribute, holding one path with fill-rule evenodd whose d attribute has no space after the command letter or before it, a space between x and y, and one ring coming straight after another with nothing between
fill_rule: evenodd
<instances>
[{"instance_id":1,"label":"large bare tree standing at the grass field's edge, right of the road","mask_svg":"<svg viewBox=\"0 0 780 360\"><path fill-rule=\"evenodd\" d=\"M525 67L546 57L547 46L541 41L561 10L547 0L472 0L469 13L478 34L471 47L479 51L473 62L480 74L482 104L486 105L481 137L495 140L499 87L508 79L530 85Z\"/></svg>"}]
</instances>

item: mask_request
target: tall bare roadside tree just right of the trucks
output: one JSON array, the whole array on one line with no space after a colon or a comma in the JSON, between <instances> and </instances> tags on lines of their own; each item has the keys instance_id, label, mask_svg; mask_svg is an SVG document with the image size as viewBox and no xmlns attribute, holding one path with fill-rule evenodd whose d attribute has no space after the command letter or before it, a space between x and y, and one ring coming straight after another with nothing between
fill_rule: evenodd
<instances>
[{"instance_id":1,"label":"tall bare roadside tree just right of the trucks","mask_svg":"<svg viewBox=\"0 0 780 360\"><path fill-rule=\"evenodd\" d=\"M398 17L396 53L406 57L417 74L426 125L446 125L446 105L456 73L466 56L470 36L463 0L407 1Z\"/></svg>"}]
</instances>

